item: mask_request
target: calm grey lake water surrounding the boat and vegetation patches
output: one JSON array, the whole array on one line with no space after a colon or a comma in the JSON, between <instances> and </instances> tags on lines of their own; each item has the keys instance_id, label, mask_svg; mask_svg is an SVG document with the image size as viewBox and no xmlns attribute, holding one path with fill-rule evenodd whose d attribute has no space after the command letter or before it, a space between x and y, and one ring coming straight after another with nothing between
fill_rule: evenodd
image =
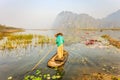
<instances>
[{"instance_id":1,"label":"calm grey lake water surrounding the boat and vegetation patches","mask_svg":"<svg viewBox=\"0 0 120 80\"><path fill-rule=\"evenodd\" d=\"M28 30L24 33L30 34L44 34L54 37L54 31L32 31ZM22 34L22 33L17 33ZM120 74L120 49L113 46L86 46L84 40L96 38L102 34L109 34L110 36L120 40L119 31L103 31L103 32L86 32L79 33L80 42L65 45L65 50L69 52L69 58L64 65L63 80L75 80L82 76L82 74L89 74L92 72L104 72L109 74ZM84 38L84 39L83 39ZM34 65L44 57L48 51L55 47L48 56L41 62L38 68L47 69L48 72L55 72L53 69L47 67L47 61L56 52L55 45L45 44L41 46L28 46L26 49L18 48L15 50L0 51L0 80L7 80L9 76L13 76L15 80L22 80L23 75L30 71Z\"/></svg>"}]
</instances>

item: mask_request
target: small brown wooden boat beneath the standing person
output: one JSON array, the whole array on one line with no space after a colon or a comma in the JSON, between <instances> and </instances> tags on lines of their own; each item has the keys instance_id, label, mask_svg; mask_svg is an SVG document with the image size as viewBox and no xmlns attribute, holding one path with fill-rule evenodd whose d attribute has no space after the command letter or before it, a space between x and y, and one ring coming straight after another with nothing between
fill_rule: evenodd
<instances>
[{"instance_id":1,"label":"small brown wooden boat beneath the standing person","mask_svg":"<svg viewBox=\"0 0 120 80\"><path fill-rule=\"evenodd\" d=\"M63 58L58 59L57 53L48 61L48 67L54 68L54 67L60 67L65 64L68 58L68 52L63 51Z\"/></svg>"}]
</instances>

